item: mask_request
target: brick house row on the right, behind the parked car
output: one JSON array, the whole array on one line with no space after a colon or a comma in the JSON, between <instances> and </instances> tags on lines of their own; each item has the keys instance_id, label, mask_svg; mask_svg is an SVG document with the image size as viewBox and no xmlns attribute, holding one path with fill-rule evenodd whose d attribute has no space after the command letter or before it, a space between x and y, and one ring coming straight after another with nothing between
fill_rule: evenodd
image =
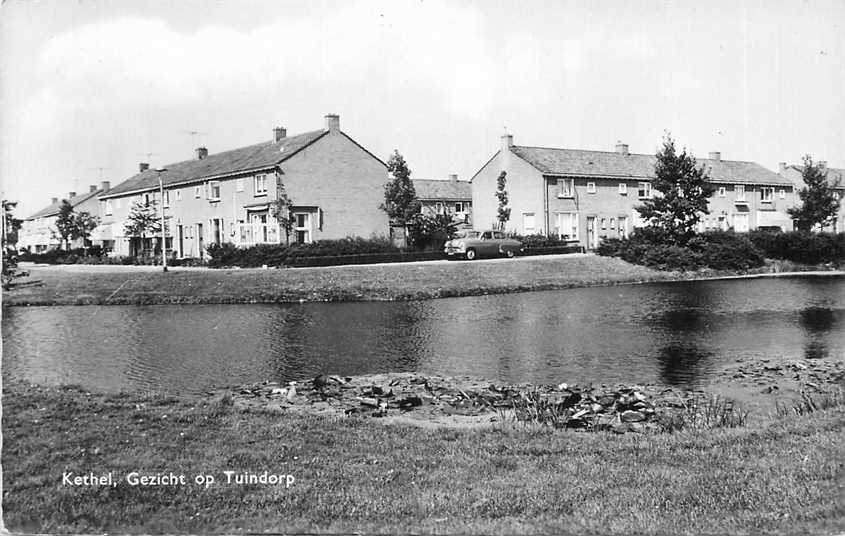
<instances>
[{"instance_id":1,"label":"brick house row on the right, behind the parked car","mask_svg":"<svg viewBox=\"0 0 845 536\"><path fill-rule=\"evenodd\" d=\"M624 237L643 225L634 207L652 195L655 162L654 155L629 153L622 143L612 152L527 147L514 145L507 134L470 180L474 226L496 225L496 180L506 171L507 231L578 240L592 249L601 238ZM719 153L698 163L716 186L702 230L791 229L786 208L794 203L792 182L753 162L723 160Z\"/></svg>"}]
</instances>

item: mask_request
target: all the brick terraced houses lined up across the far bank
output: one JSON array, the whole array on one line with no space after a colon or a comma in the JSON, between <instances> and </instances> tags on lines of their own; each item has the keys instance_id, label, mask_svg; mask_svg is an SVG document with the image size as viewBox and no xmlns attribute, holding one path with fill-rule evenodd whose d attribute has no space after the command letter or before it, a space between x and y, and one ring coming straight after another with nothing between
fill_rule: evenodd
<instances>
[{"instance_id":1,"label":"all the brick terraced houses lined up across the far bank","mask_svg":"<svg viewBox=\"0 0 845 536\"><path fill-rule=\"evenodd\" d=\"M701 230L793 228L787 209L799 202L800 166L782 163L774 172L754 162L723 159L718 152L699 163L716 187ZM627 236L643 225L635 207L654 195L654 164L654 155L631 153L623 143L607 152L531 147L515 145L508 134L469 181L450 175L414 182L424 212L451 214L462 225L484 229L496 223L496 180L505 171L511 208L507 231L577 240L593 249L602 238ZM271 213L280 186L292 202L294 242L390 233L379 208L387 167L344 133L334 114L325 116L319 130L288 136L277 127L265 142L219 153L200 147L193 158L164 168L141 163L136 175L114 187L104 182L83 196L68 196L77 210L100 216L94 244L116 255L149 248L150 243L127 236L126 222L133 204L150 200L163 201L167 249L176 257L202 257L208 245L224 242L281 243L285 237ZM845 170L825 169L843 197ZM58 246L51 226L60 203L54 198L24 220L18 247ZM845 203L832 227L845 229Z\"/></svg>"}]
</instances>

